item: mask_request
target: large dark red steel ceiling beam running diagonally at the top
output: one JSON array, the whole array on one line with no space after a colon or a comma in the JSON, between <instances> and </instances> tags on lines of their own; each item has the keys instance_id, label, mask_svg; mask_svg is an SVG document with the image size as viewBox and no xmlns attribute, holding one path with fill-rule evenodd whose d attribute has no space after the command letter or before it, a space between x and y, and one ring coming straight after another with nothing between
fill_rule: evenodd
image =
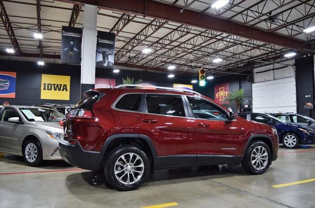
<instances>
[{"instance_id":1,"label":"large dark red steel ceiling beam running diagonally at the top","mask_svg":"<svg viewBox=\"0 0 315 208\"><path fill-rule=\"evenodd\" d=\"M238 24L230 20L220 19L200 12L186 10L180 12L180 7L153 0L61 0L72 3L88 3L101 8L145 15L152 18L169 20L197 28L221 31L253 40L280 45L295 50L315 52L309 43L284 37L274 32L260 30ZM260 2L260 1L259 1ZM262 1L261 1L262 2Z\"/></svg>"}]
</instances>

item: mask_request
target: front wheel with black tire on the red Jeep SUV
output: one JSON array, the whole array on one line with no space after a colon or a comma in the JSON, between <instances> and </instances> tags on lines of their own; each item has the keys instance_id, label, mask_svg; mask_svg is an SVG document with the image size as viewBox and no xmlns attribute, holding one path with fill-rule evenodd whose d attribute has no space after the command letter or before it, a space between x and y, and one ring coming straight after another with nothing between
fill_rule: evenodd
<instances>
[{"instance_id":1,"label":"front wheel with black tire on the red Jeep SUV","mask_svg":"<svg viewBox=\"0 0 315 208\"><path fill-rule=\"evenodd\" d=\"M242 167L250 174L263 174L271 163L271 152L268 145L262 141L254 141L246 150Z\"/></svg>"}]
</instances>

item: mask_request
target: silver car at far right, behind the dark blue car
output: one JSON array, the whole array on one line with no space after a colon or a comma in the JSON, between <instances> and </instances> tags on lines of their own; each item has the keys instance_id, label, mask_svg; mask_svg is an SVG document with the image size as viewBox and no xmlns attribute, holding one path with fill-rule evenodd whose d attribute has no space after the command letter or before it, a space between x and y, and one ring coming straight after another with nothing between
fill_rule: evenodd
<instances>
[{"instance_id":1,"label":"silver car at far right, behind the dark blue car","mask_svg":"<svg viewBox=\"0 0 315 208\"><path fill-rule=\"evenodd\" d=\"M298 126L307 126L315 130L315 119L312 119L305 115L294 114L294 113L271 114L271 115L286 123L295 124Z\"/></svg>"}]
</instances>

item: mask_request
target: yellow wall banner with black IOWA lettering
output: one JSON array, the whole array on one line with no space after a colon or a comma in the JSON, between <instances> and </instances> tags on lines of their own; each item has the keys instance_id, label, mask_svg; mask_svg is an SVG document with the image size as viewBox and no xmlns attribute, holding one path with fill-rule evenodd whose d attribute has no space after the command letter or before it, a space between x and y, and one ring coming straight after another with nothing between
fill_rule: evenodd
<instances>
[{"instance_id":1,"label":"yellow wall banner with black IOWA lettering","mask_svg":"<svg viewBox=\"0 0 315 208\"><path fill-rule=\"evenodd\" d=\"M70 76L42 74L40 99L69 100Z\"/></svg>"}]
</instances>

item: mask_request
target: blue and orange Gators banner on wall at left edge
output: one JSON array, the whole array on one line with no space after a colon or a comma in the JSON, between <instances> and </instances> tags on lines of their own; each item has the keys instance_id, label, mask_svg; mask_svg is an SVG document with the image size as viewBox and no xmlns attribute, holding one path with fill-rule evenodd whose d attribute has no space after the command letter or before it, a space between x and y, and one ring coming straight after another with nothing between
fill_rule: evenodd
<instances>
[{"instance_id":1,"label":"blue and orange Gators banner on wall at left edge","mask_svg":"<svg viewBox=\"0 0 315 208\"><path fill-rule=\"evenodd\" d=\"M0 97L15 98L16 72L0 71Z\"/></svg>"}]
</instances>

